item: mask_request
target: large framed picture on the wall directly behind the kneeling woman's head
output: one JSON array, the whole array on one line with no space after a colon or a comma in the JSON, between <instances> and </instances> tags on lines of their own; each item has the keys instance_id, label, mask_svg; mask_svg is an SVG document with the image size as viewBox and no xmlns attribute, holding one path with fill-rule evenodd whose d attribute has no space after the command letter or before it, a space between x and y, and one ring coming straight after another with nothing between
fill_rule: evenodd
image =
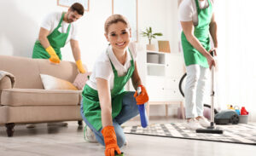
<instances>
[{"instance_id":1,"label":"large framed picture on the wall directly behind the kneeling woman's head","mask_svg":"<svg viewBox=\"0 0 256 156\"><path fill-rule=\"evenodd\" d=\"M122 14L131 25L131 40L138 42L137 0L112 0L112 14Z\"/></svg>"}]
</instances>

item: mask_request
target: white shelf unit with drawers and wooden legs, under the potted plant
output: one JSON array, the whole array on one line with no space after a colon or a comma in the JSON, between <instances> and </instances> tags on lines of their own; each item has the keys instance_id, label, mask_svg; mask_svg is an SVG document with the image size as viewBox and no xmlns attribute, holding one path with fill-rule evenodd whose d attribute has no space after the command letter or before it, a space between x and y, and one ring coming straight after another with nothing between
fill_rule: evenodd
<instances>
[{"instance_id":1,"label":"white shelf unit with drawers and wooden legs, under the potted plant","mask_svg":"<svg viewBox=\"0 0 256 156\"><path fill-rule=\"evenodd\" d=\"M166 105L166 116L169 104L179 104L183 110L183 97L178 90L184 73L183 55L147 50L145 57L147 72L143 81L149 96L148 117L150 105ZM184 118L183 112L182 115Z\"/></svg>"}]
</instances>

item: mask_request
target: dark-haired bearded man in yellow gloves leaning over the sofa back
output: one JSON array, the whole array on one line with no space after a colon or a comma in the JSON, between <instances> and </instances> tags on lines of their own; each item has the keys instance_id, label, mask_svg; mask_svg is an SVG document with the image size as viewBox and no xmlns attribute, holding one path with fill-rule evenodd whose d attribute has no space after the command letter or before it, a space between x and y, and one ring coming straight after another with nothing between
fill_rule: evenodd
<instances>
[{"instance_id":1,"label":"dark-haired bearded man in yellow gloves leaning over the sofa back","mask_svg":"<svg viewBox=\"0 0 256 156\"><path fill-rule=\"evenodd\" d=\"M61 48L70 42L79 72L84 73L78 31L75 24L75 21L79 20L83 14L83 5L73 3L67 12L52 13L46 16L41 24L39 37L33 48L32 58L49 59L50 62L59 64L62 59Z\"/></svg>"}]
</instances>

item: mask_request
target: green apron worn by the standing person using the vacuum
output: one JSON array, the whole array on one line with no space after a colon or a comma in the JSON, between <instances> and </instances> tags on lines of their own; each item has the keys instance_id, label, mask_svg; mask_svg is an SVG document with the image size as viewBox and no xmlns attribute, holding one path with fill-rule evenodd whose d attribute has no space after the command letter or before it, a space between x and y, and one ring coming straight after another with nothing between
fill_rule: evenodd
<instances>
[{"instance_id":1,"label":"green apron worn by the standing person using the vacuum","mask_svg":"<svg viewBox=\"0 0 256 156\"><path fill-rule=\"evenodd\" d=\"M195 0L197 14L198 14L198 25L195 26L194 35L202 46L209 51L211 49L210 37L209 37L209 24L212 19L212 3L208 0L209 6L206 9L200 9L198 0ZM184 32L182 32L182 45L185 65L198 64L203 67L209 67L207 58L196 50L187 40Z\"/></svg>"}]
</instances>

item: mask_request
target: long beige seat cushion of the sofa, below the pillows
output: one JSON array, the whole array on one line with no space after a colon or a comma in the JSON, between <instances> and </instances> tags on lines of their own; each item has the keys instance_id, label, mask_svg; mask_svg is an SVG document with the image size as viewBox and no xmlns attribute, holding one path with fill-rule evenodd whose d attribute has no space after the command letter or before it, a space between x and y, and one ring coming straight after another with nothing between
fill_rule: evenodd
<instances>
[{"instance_id":1,"label":"long beige seat cushion of the sofa, below the pillows","mask_svg":"<svg viewBox=\"0 0 256 156\"><path fill-rule=\"evenodd\" d=\"M38 89L4 89L1 105L9 106L57 106L79 105L79 90L38 90Z\"/></svg>"}]
</instances>

